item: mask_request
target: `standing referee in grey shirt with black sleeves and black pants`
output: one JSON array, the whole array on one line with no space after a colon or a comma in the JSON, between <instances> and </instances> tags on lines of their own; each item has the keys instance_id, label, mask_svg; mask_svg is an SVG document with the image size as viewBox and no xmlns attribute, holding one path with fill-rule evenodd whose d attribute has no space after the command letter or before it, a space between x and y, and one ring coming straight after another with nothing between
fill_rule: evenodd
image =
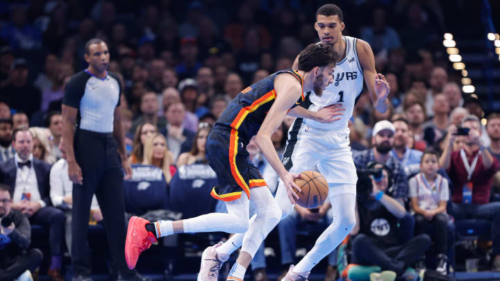
<instances>
[{"instance_id":1,"label":"standing referee in grey shirt with black sleeves and black pants","mask_svg":"<svg viewBox=\"0 0 500 281\"><path fill-rule=\"evenodd\" d=\"M132 176L128 164L122 120L117 106L121 85L108 72L108 46L94 38L85 44L89 67L75 74L66 85L63 99L63 137L69 179L73 185L72 263L73 281L90 281L87 232L92 195L97 196L110 251L119 280L150 280L127 268L125 262L125 207L123 172ZM76 126L75 126L76 125Z\"/></svg>"}]
</instances>

